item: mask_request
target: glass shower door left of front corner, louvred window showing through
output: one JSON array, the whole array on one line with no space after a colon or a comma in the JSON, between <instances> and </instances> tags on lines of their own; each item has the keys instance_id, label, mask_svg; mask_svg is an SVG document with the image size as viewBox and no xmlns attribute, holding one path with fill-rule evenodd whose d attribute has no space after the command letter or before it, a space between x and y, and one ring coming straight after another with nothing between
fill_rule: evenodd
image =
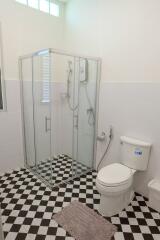
<instances>
[{"instance_id":1,"label":"glass shower door left of front corner, louvred window showing through","mask_svg":"<svg viewBox=\"0 0 160 240\"><path fill-rule=\"evenodd\" d=\"M33 57L33 112L36 171L51 181L51 100L50 54L41 52Z\"/></svg>"}]
</instances>

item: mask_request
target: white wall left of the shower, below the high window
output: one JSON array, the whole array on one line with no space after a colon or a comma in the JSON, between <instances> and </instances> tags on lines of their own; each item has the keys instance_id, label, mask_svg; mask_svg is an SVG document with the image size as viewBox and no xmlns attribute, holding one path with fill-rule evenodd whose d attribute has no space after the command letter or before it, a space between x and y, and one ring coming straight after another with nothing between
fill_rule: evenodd
<instances>
[{"instance_id":1,"label":"white wall left of the shower, below the high window","mask_svg":"<svg viewBox=\"0 0 160 240\"><path fill-rule=\"evenodd\" d=\"M63 48L64 18L0 0L0 22L7 95L7 112L0 113L0 172L6 172L24 164L18 57L48 47Z\"/></svg>"}]
</instances>

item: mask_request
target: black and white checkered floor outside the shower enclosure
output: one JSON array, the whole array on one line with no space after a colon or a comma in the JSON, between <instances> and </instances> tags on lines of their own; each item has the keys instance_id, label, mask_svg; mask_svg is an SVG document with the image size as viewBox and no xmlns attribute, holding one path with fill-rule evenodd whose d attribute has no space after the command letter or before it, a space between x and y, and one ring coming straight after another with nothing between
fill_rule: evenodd
<instances>
[{"instance_id":1,"label":"black and white checkered floor outside the shower enclosure","mask_svg":"<svg viewBox=\"0 0 160 240\"><path fill-rule=\"evenodd\" d=\"M52 219L52 214L73 200L96 210L100 196L95 178L96 172L92 171L51 191L27 169L0 176L5 240L73 240ZM160 239L160 214L150 209L147 199L138 194L123 212L108 220L118 227L115 240Z\"/></svg>"}]
</instances>

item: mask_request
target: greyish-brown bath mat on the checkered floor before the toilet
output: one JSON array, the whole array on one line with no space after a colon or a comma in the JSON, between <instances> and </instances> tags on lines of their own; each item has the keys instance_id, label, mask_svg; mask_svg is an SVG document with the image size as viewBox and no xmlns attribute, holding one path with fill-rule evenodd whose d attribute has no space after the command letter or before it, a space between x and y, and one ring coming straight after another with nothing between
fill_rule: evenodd
<instances>
[{"instance_id":1,"label":"greyish-brown bath mat on the checkered floor before the toilet","mask_svg":"<svg viewBox=\"0 0 160 240\"><path fill-rule=\"evenodd\" d=\"M78 201L53 218L76 240L110 240L116 232L114 225Z\"/></svg>"}]
</instances>

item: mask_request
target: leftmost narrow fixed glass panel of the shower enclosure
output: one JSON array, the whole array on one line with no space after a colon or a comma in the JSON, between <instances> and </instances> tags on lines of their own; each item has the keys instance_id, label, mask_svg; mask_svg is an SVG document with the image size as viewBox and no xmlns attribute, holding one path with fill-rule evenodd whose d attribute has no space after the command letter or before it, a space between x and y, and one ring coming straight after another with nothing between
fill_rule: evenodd
<instances>
[{"instance_id":1,"label":"leftmost narrow fixed glass panel of the shower enclosure","mask_svg":"<svg viewBox=\"0 0 160 240\"><path fill-rule=\"evenodd\" d=\"M34 134L34 99L33 99L33 61L25 58L21 62L23 125L24 125L24 152L27 167L36 167L36 149Z\"/></svg>"}]
</instances>

